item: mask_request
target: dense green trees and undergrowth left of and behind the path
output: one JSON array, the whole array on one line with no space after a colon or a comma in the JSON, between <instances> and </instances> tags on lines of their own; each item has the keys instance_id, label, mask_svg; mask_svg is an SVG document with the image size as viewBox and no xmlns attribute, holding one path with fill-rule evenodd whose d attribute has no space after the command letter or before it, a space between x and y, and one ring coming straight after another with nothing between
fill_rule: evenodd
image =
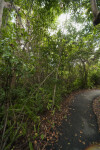
<instances>
[{"instance_id":1,"label":"dense green trees and undergrowth left of and behind the path","mask_svg":"<svg viewBox=\"0 0 100 150\"><path fill-rule=\"evenodd\" d=\"M85 0L13 5L18 10L4 8L0 29L1 150L13 149L20 137L31 150L28 126L39 133L40 114L59 109L72 91L100 85L100 25L93 26ZM70 14L66 33L58 28L62 13Z\"/></svg>"}]
</instances>

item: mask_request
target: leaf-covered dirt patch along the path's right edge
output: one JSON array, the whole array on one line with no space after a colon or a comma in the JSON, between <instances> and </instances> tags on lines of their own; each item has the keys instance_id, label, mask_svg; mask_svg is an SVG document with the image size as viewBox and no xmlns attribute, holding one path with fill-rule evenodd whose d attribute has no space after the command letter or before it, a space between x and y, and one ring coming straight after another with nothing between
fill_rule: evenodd
<instances>
[{"instance_id":1,"label":"leaf-covered dirt patch along the path's right edge","mask_svg":"<svg viewBox=\"0 0 100 150\"><path fill-rule=\"evenodd\" d=\"M100 97L94 100L93 110L94 110L95 115L97 116L98 127L99 127L99 132L100 132Z\"/></svg>"}]
</instances>

